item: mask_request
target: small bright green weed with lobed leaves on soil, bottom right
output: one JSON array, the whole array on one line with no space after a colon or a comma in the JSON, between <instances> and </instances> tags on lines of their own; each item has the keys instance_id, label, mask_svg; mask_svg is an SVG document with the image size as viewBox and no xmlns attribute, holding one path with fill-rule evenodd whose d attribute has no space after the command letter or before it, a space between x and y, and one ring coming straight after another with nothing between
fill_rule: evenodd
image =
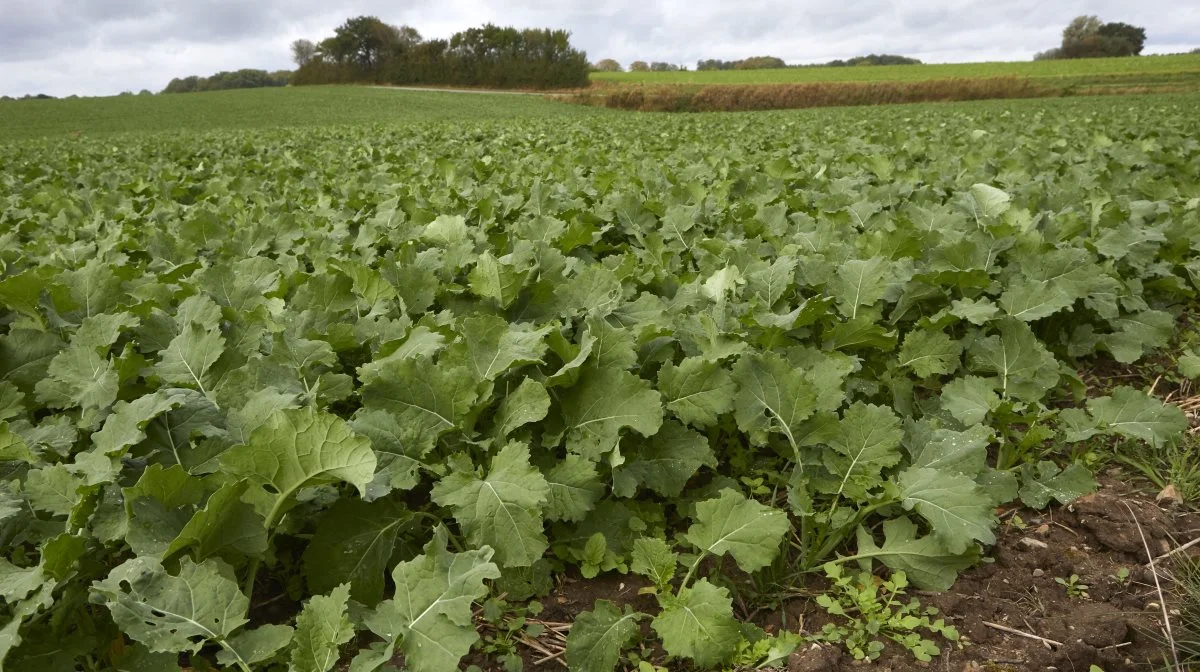
<instances>
[{"instance_id":1,"label":"small bright green weed with lobed leaves on soil, bottom right","mask_svg":"<svg viewBox=\"0 0 1200 672\"><path fill-rule=\"evenodd\" d=\"M952 642L959 640L958 630L944 619L931 620L937 616L936 608L923 610L916 598L900 601L908 586L902 571L882 580L870 572L844 574L841 565L833 563L826 564L824 570L832 582L830 592L818 595L817 604L832 616L844 617L846 623L826 624L817 640L841 642L857 660L875 660L883 653L883 638L888 638L925 662L942 649L926 640L924 632L941 635Z\"/></svg>"}]
</instances>

